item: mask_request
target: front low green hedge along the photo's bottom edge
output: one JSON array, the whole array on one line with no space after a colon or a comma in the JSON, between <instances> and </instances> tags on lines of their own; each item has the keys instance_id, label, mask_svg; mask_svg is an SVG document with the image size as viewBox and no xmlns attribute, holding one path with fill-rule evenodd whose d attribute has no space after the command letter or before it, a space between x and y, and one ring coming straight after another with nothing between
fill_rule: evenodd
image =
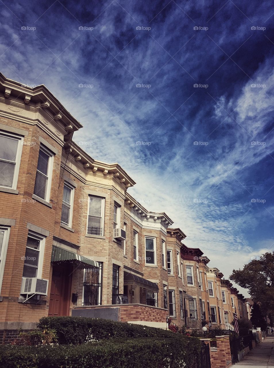
<instances>
[{"instance_id":1,"label":"front low green hedge along the photo's bottom edge","mask_svg":"<svg viewBox=\"0 0 274 368\"><path fill-rule=\"evenodd\" d=\"M0 346L5 368L183 368L194 367L200 341L171 338L118 339L52 346Z\"/></svg>"}]
</instances>

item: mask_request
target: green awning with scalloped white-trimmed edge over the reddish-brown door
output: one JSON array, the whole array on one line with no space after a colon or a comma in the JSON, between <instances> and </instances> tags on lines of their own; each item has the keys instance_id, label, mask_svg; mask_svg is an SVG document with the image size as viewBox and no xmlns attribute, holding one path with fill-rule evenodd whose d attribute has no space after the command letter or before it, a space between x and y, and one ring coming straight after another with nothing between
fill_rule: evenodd
<instances>
[{"instance_id":1,"label":"green awning with scalloped white-trimmed edge over the reddish-brown door","mask_svg":"<svg viewBox=\"0 0 274 368\"><path fill-rule=\"evenodd\" d=\"M56 245L52 246L51 262L53 264L60 262L74 263L78 268L99 268L99 264L96 261L66 249L56 247Z\"/></svg>"}]
</instances>

